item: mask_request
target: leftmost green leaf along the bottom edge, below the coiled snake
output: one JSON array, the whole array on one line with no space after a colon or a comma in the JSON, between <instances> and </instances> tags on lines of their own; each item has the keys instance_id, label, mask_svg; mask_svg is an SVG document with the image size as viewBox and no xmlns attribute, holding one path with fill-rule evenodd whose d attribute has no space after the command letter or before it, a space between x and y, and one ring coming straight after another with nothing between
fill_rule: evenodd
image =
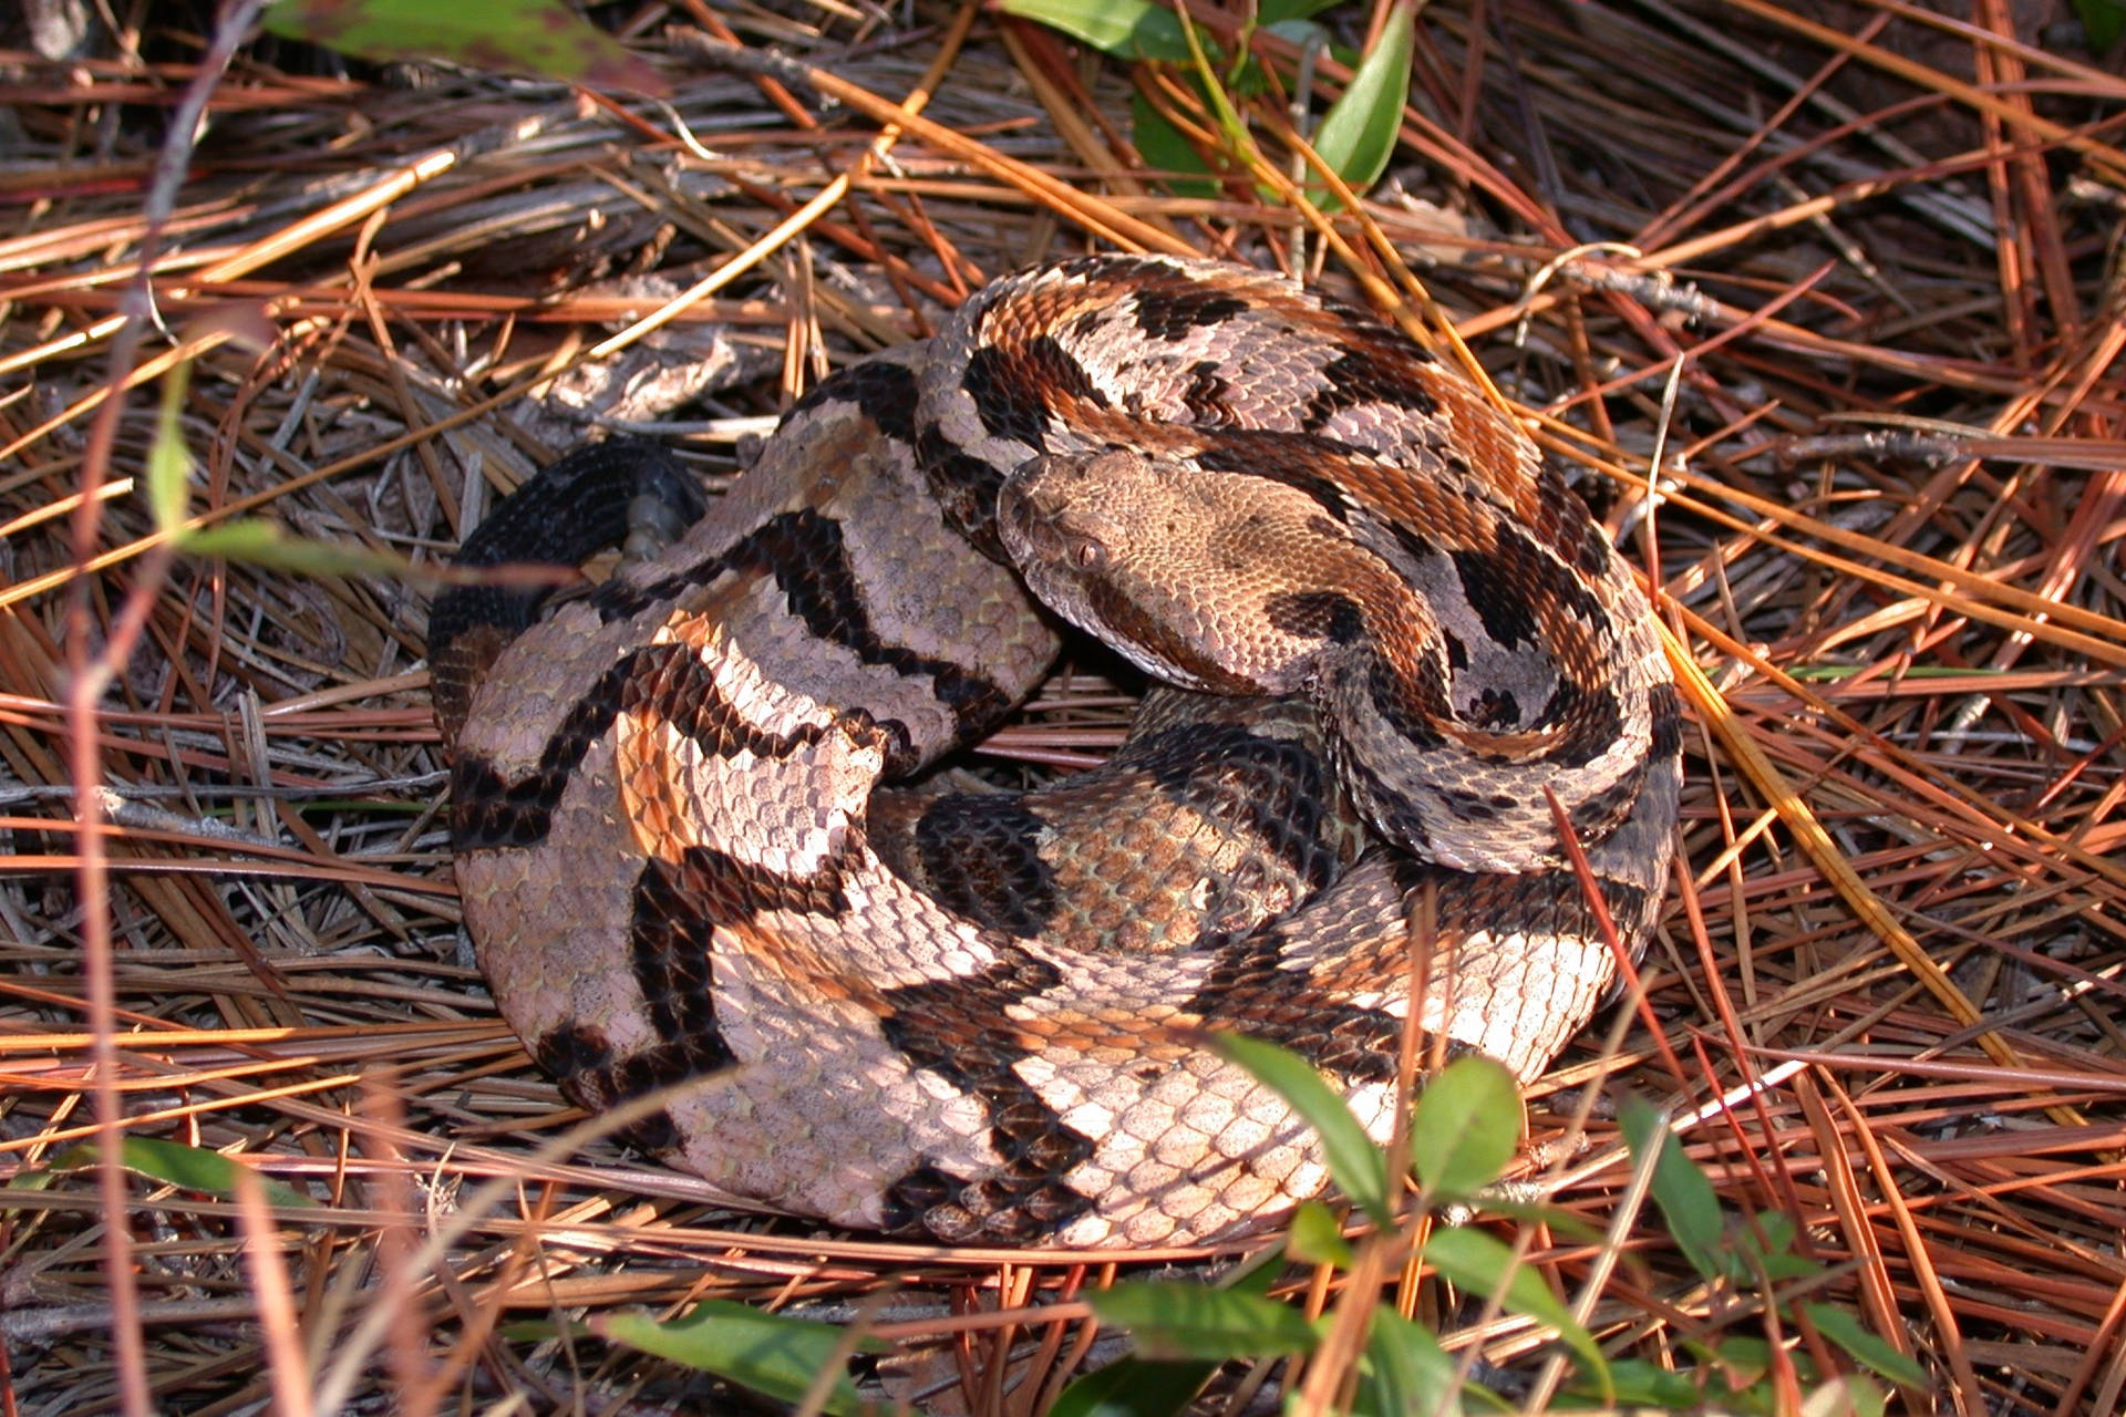
<instances>
[{"instance_id":1,"label":"leftmost green leaf along the bottom edge, below the coiled snake","mask_svg":"<svg viewBox=\"0 0 2126 1417\"><path fill-rule=\"evenodd\" d=\"M784 1402L804 1400L812 1377L836 1360L844 1338L844 1330L836 1324L763 1313L721 1298L706 1298L668 1324L646 1313L597 1315L591 1319L591 1332ZM872 1338L857 1347L865 1353L887 1349ZM857 1417L863 1411L863 1398L846 1372L836 1375L823 1411L836 1417Z\"/></svg>"}]
</instances>

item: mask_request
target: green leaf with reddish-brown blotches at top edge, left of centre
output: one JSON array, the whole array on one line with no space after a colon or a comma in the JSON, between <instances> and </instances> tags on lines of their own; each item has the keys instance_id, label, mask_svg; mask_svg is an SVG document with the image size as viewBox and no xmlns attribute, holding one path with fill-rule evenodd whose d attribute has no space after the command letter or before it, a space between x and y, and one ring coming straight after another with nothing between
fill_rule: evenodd
<instances>
[{"instance_id":1,"label":"green leaf with reddish-brown blotches at top edge, left of centre","mask_svg":"<svg viewBox=\"0 0 2126 1417\"><path fill-rule=\"evenodd\" d=\"M665 98L672 85L563 0L276 0L266 28L364 59L455 59L591 89Z\"/></svg>"}]
</instances>

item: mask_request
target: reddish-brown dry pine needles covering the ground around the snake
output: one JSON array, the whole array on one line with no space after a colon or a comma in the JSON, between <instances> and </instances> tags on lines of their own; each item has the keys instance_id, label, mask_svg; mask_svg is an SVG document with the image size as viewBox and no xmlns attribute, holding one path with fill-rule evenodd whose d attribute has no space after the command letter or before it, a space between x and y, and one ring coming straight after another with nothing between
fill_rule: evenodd
<instances>
[{"instance_id":1,"label":"reddish-brown dry pine needles covering the ground around the snake","mask_svg":"<svg viewBox=\"0 0 2126 1417\"><path fill-rule=\"evenodd\" d=\"M944 8L729 17L748 45L831 64L833 106L689 57L668 62L659 108L242 51L155 229L151 164L204 36L155 32L145 59L100 32L96 59L0 55L0 1164L36 1175L94 1132L87 964L108 958L108 1077L132 1126L330 1202L268 1215L253 1198L247 1226L240 1200L130 1181L128 1321L94 1177L13 1198L9 1398L113 1406L130 1338L168 1411L268 1394L300 1411L334 1381L406 1411L500 1392L699 1404L702 1379L497 1324L704 1296L861 1309L897 1345L887 1389L931 1411L1025 1413L1054 1389L1093 1343L1074 1294L1112 1273L1099 1262L823 1236L708 1207L608 1143L553 1154L576 1115L459 939L425 588L157 554L128 482L151 391L100 421L115 357L140 382L191 357L196 514L264 512L432 565L578 436L544 376L657 289L729 274L617 357L636 372L659 344L676 380L721 361L697 402L623 408L721 478L733 440L823 368L1108 232L1322 261L1359 295L1418 272L1656 567L1705 676L1688 869L1643 1011L1531 1096L1537 1158L1573 1166L1560 1205L1599 1226L1626 1179L1605 1109L1577 1154L1556 1145L1580 1088L1694 1107L1799 1058L1688 1130L1724 1200L1796 1217L1833 1266L1818 1298L1920 1355L1943 1411L2115 1413L2126 83L2071 25L2041 30L2043 8L1441 4L1369 225L1339 219L1333 240L1256 183L1165 195L1127 170L1118 66L993 19L961 45ZM668 21L714 17L625 19L659 53ZM918 87L927 123L867 155ZM1284 172L1276 110L1256 123ZM846 189L778 229L836 176ZM147 251L164 331L121 334ZM621 285L648 274L663 285ZM227 302L270 312L268 353L200 323ZM89 571L70 548L83 486L100 489ZM132 633L94 744L111 875L85 897L66 654ZM1063 680L986 761L1097 756L1127 693L1097 667ZM415 1253L427 1236L434 1258ZM1569 1296L1594 1260L1548 1232L1529 1256ZM1307 1302L1333 1302L1322 1279L1297 1279ZM1448 1328L1473 1313L1416 1273L1401 1298ZM1752 1300L1699 1287L1641 1219L1592 1324L1618 1353L1671 1360L1762 1332ZM372 1315L364 1364L349 1334ZM1509 1321L1452 1343L1509 1372L1543 1362ZM1813 1334L1801 1347L1828 1358ZM1265 1377L1301 1381L1239 1385Z\"/></svg>"}]
</instances>

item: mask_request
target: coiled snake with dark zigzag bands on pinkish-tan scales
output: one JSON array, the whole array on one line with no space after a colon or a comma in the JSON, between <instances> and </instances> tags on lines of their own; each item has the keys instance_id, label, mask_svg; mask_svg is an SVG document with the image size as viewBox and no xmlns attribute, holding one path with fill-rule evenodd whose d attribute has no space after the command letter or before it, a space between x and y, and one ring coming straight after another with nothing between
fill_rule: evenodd
<instances>
[{"instance_id":1,"label":"coiled snake with dark zigzag bands on pinkish-tan scales","mask_svg":"<svg viewBox=\"0 0 2126 1417\"><path fill-rule=\"evenodd\" d=\"M821 382L706 512L612 440L457 561L640 533L544 618L438 597L453 852L538 1062L593 1109L659 1090L629 1141L731 1196L1229 1236L1327 1168L1210 1030L1297 1049L1384 1139L1435 888L1422 1026L1535 1077L1614 973L1552 803L1624 945L1652 931L1682 720L1643 593L1471 385L1280 276L1008 276ZM1154 680L1123 750L1027 792L925 775L1040 684L1057 616Z\"/></svg>"}]
</instances>

